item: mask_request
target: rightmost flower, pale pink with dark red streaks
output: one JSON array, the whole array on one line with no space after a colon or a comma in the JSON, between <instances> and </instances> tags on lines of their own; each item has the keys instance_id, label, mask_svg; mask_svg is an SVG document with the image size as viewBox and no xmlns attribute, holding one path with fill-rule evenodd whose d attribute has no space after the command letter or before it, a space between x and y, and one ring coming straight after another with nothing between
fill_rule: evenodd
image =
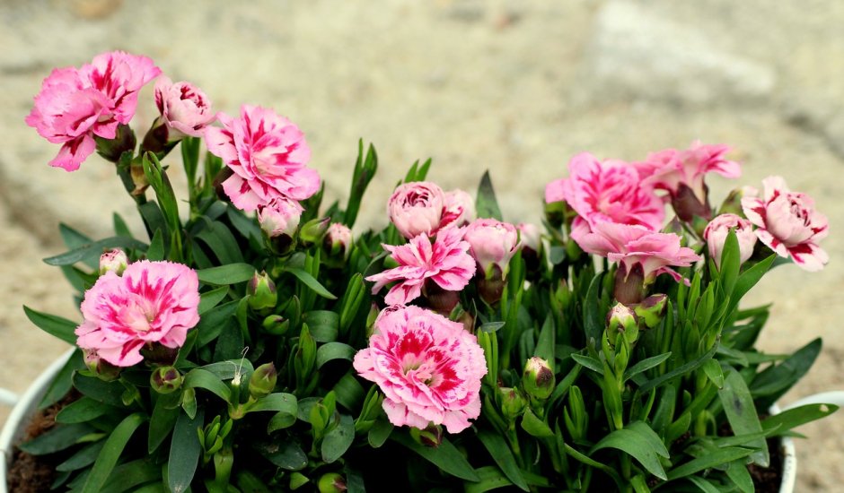
<instances>
[{"instance_id":1,"label":"rightmost flower, pale pink with dark red streaks","mask_svg":"<svg viewBox=\"0 0 844 493\"><path fill-rule=\"evenodd\" d=\"M820 271L830 261L818 246L829 233L826 216L814 210L812 197L790 192L782 177L767 177L762 186L761 198L742 199L744 215L758 227L756 236L806 271Z\"/></svg>"}]
</instances>

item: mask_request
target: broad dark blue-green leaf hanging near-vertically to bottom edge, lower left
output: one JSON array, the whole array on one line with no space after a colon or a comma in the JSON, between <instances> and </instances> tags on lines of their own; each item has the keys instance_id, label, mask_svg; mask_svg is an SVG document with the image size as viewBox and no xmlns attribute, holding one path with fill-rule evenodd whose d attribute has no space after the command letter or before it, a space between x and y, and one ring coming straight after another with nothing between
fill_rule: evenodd
<instances>
[{"instance_id":1,"label":"broad dark blue-green leaf hanging near-vertically to bottom edge, lower left","mask_svg":"<svg viewBox=\"0 0 844 493\"><path fill-rule=\"evenodd\" d=\"M205 410L200 408L192 419L181 412L176 419L167 463L167 486L173 493L189 489L197 471L199 455L202 453L197 429L202 427L204 414Z\"/></svg>"}]
</instances>

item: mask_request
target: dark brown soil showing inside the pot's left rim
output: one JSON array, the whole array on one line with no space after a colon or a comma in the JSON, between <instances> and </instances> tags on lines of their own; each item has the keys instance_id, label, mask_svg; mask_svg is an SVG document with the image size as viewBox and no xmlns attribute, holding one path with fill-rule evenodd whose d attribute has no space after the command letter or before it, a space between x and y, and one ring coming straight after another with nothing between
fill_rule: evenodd
<instances>
[{"instance_id":1,"label":"dark brown soil showing inside the pot's left rim","mask_svg":"<svg viewBox=\"0 0 844 493\"><path fill-rule=\"evenodd\" d=\"M23 441L38 437L56 426L56 414L67 404L79 398L78 394L67 394L64 399L37 411L29 426ZM12 464L9 466L8 487L10 493L39 493L49 491L56 480L55 458L48 455L31 455L15 447L12 454Z\"/></svg>"}]
</instances>

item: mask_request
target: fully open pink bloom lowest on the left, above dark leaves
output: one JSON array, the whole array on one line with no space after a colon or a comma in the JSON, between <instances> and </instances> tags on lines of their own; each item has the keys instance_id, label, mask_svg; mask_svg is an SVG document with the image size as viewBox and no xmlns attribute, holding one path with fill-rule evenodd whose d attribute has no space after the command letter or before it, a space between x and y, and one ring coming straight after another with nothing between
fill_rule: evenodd
<instances>
[{"instance_id":1,"label":"fully open pink bloom lowest on the left, above dark leaves","mask_svg":"<svg viewBox=\"0 0 844 493\"><path fill-rule=\"evenodd\" d=\"M143 260L102 275L82 302L76 344L118 367L143 360L146 344L180 348L199 322L199 280L186 265Z\"/></svg>"}]
</instances>

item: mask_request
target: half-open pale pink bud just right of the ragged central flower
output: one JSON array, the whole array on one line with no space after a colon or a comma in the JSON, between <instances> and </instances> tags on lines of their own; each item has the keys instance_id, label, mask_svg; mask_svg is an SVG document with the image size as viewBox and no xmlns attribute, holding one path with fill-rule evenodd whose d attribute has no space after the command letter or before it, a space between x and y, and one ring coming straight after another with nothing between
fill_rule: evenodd
<instances>
[{"instance_id":1,"label":"half-open pale pink bud just right of the ragged central flower","mask_svg":"<svg viewBox=\"0 0 844 493\"><path fill-rule=\"evenodd\" d=\"M469 242L469 250L487 278L497 267L501 278L506 279L510 259L519 250L519 231L514 225L494 219L472 221L466 227L463 239Z\"/></svg>"}]
</instances>

